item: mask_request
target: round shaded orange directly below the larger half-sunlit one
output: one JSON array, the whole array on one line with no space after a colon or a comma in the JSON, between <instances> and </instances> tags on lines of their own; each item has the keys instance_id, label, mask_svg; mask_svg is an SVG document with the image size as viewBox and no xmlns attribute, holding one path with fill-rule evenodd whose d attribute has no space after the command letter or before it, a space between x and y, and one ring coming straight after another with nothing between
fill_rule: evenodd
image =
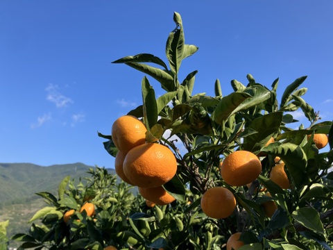
<instances>
[{"instance_id":1,"label":"round shaded orange directly below the larger half-sunlit one","mask_svg":"<svg viewBox=\"0 0 333 250\"><path fill-rule=\"evenodd\" d=\"M200 206L203 213L214 219L226 218L234 212L236 199L227 188L214 187L203 193Z\"/></svg>"}]
</instances>

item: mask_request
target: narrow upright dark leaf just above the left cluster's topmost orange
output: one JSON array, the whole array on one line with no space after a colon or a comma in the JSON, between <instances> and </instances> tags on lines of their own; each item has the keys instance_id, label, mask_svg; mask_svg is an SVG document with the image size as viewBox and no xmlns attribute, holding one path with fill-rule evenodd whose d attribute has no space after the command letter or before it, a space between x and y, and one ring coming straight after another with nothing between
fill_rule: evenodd
<instances>
[{"instance_id":1,"label":"narrow upright dark leaf just above the left cluster's topmost orange","mask_svg":"<svg viewBox=\"0 0 333 250\"><path fill-rule=\"evenodd\" d=\"M146 76L142 79L142 101L144 103L144 124L148 131L157 124L157 102L155 99L155 90L149 84Z\"/></svg>"}]
</instances>

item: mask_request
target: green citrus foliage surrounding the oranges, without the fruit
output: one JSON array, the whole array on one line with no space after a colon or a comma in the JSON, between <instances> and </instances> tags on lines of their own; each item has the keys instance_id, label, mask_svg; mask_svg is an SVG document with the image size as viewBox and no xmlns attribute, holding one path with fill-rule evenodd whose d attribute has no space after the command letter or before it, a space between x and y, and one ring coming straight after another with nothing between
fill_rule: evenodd
<instances>
[{"instance_id":1,"label":"green citrus foliage surrounding the oranges, without the fruit","mask_svg":"<svg viewBox=\"0 0 333 250\"><path fill-rule=\"evenodd\" d=\"M43 226L33 224L29 235L15 238L24 241L22 248L102 249L113 244L122 249L223 249L230 235L239 231L245 242L243 250L331 249L333 174L329 169L333 162L333 126L330 121L318 122L318 112L303 99L307 89L299 87L306 76L288 85L280 101L278 78L268 88L250 74L246 84L232 80L234 92L226 96L218 79L214 97L192 94L197 71L182 81L178 72L182 60L198 48L185 44L182 19L176 12L173 21L176 28L166 45L169 68L149 53L126 56L114 63L125 63L148 74L165 90L156 98L144 76L143 103L128 114L143 119L148 141L158 140L173 150L178 171L164 188L176 201L148 208L142 197L130 194L127 185L116 185L113 176L97 169L90 172L93 178L89 186L74 188L67 179L60 184L58 198L40 193L50 206L42 208L31 221L41 218ZM300 124L295 129L296 110L302 110L309 120L307 128ZM313 137L307 139L306 135L314 133L328 135L327 151L318 151ZM108 139L105 149L114 156L117 149L112 137L99 136ZM266 145L272 137L275 142ZM260 156L262 174L250 188L230 186L221 178L220 161L236 150ZM280 188L268 178L276 156L285 163L289 189ZM264 196L259 185L271 197ZM234 194L237 208L230 217L212 219L201 210L200 197L214 186L223 186ZM77 212L89 192L94 194L91 201L96 206L95 217ZM265 217L262 203L272 200L278 210L271 218ZM62 215L69 209L76 213L66 225Z\"/></svg>"}]
</instances>

